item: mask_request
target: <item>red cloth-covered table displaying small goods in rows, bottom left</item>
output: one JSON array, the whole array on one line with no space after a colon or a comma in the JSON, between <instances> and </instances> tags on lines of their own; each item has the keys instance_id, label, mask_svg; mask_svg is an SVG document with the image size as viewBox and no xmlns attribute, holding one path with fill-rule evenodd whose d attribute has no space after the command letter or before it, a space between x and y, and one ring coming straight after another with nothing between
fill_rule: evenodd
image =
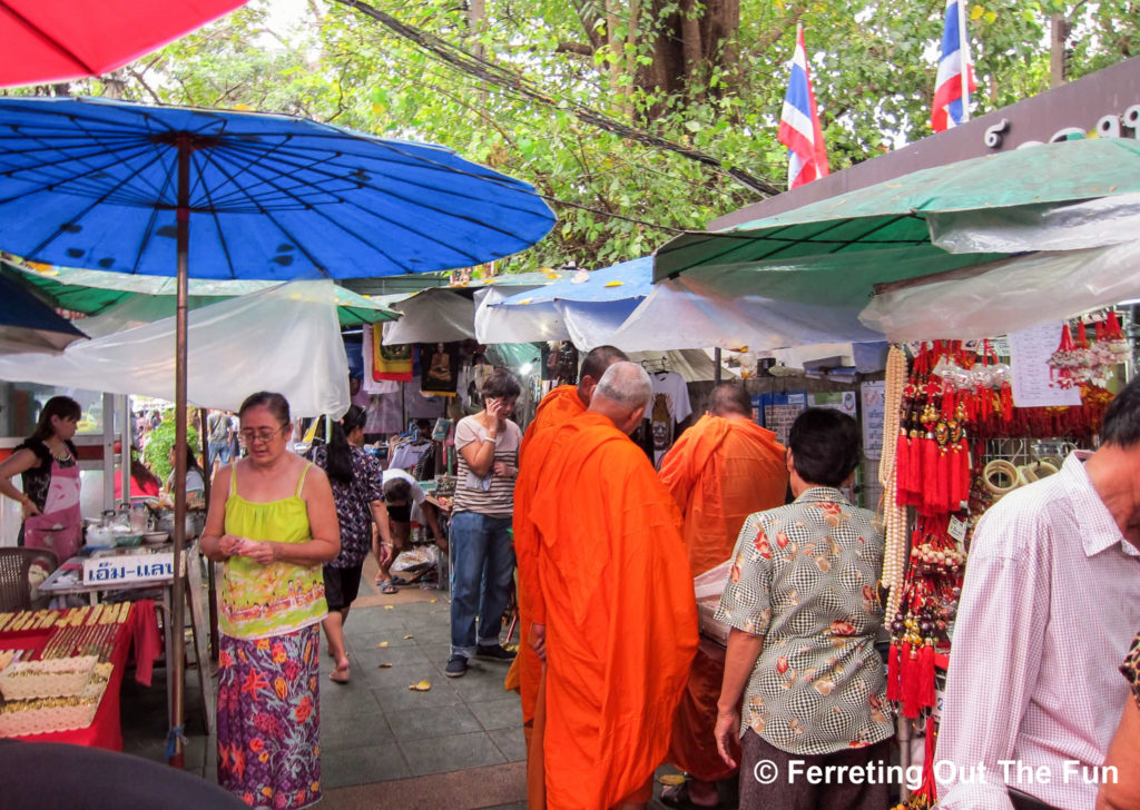
<instances>
[{"instance_id":1,"label":"red cloth-covered table displaying small goods in rows, bottom left","mask_svg":"<svg viewBox=\"0 0 1140 810\"><path fill-rule=\"evenodd\" d=\"M150 685L158 654L154 603L0 613L0 737L123 747L119 692Z\"/></svg>"}]
</instances>

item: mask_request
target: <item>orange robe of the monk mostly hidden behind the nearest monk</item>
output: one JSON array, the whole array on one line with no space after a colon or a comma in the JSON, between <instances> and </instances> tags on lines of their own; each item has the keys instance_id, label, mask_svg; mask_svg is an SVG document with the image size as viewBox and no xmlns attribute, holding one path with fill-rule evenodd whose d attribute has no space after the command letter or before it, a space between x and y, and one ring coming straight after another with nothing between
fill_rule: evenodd
<instances>
[{"instance_id":1,"label":"orange robe of the monk mostly hidden behind the nearest monk","mask_svg":"<svg viewBox=\"0 0 1140 810\"><path fill-rule=\"evenodd\" d=\"M531 464L527 450L535 436L552 427L563 425L576 416L586 412L586 406L578 398L578 388L573 385L560 385L543 398L535 411L535 418L527 426L527 433L522 436L519 445L519 469L523 471ZM526 535L527 531L532 531L530 524L520 516L526 515L530 508L534 497L534 486L520 486L524 478L515 481L514 486L514 537L519 542L520 534ZM535 697L538 694L538 679L542 674L543 663L538 655L527 644L530 637L530 623L534 611L520 583L519 586L519 655L511 663L511 669L506 673L504 686L507 689L518 689L522 698L522 722L529 725L535 717Z\"/></svg>"}]
</instances>

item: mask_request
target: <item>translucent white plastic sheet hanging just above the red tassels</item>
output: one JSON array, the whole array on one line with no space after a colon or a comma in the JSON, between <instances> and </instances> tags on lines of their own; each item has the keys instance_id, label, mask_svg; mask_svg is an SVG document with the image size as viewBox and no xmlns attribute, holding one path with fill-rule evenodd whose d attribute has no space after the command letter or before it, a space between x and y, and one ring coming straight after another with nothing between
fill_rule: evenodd
<instances>
[{"instance_id":1,"label":"translucent white plastic sheet hanging just above the red tassels","mask_svg":"<svg viewBox=\"0 0 1140 810\"><path fill-rule=\"evenodd\" d=\"M1140 242L1034 253L874 296L860 314L891 341L971 339L1140 297Z\"/></svg>"}]
</instances>

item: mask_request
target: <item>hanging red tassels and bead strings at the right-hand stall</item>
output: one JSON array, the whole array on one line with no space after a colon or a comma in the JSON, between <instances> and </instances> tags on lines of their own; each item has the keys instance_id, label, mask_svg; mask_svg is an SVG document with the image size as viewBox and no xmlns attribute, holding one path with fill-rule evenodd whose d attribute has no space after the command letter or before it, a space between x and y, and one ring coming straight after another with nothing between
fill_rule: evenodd
<instances>
[{"instance_id":1,"label":"hanging red tassels and bead strings at the right-hand stall","mask_svg":"<svg viewBox=\"0 0 1140 810\"><path fill-rule=\"evenodd\" d=\"M880 463L887 697L905 721L925 719L927 734L912 809L937 802L931 712L939 670L948 666L972 527L999 498L1056 473L1065 449L1091 445L1112 401L1104 383L1131 362L1115 312L1066 324L1050 358L1052 381L1078 392L1080 404L1020 408L1011 381L1025 369L1011 368L1016 352L1003 359L1005 345L1000 354L991 339L922 342L910 346L910 363L897 345L887 359Z\"/></svg>"}]
</instances>

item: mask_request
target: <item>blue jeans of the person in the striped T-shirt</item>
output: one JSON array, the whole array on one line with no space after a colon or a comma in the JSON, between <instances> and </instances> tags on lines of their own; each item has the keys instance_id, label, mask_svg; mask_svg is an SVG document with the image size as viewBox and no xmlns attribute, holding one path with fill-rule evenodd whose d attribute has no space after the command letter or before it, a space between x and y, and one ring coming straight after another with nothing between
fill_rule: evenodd
<instances>
[{"instance_id":1,"label":"blue jeans of the person in the striped T-shirt","mask_svg":"<svg viewBox=\"0 0 1140 810\"><path fill-rule=\"evenodd\" d=\"M511 518L461 512L451 517L451 655L496 645L514 582ZM475 616L479 637L475 638Z\"/></svg>"}]
</instances>

